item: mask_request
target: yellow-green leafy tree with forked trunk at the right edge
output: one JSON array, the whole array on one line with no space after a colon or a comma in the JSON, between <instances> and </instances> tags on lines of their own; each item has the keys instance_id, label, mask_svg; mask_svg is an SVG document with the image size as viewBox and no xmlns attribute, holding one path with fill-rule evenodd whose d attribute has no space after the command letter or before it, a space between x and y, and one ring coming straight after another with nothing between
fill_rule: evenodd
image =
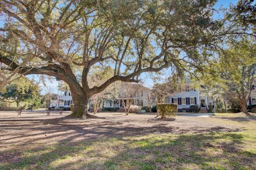
<instances>
[{"instance_id":1,"label":"yellow-green leafy tree with forked trunk at the right edge","mask_svg":"<svg viewBox=\"0 0 256 170\"><path fill-rule=\"evenodd\" d=\"M209 90L224 99L237 101L247 112L252 85L256 79L256 44L243 39L230 43L230 48L212 61L204 80Z\"/></svg>"}]
</instances>

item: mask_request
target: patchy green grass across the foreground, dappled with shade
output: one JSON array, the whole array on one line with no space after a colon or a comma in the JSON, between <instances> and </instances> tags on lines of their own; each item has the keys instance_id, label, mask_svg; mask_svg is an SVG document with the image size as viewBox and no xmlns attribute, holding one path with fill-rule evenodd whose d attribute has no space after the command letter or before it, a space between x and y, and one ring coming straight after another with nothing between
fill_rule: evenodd
<instances>
[{"instance_id":1,"label":"patchy green grass across the foreground, dappled with shade","mask_svg":"<svg viewBox=\"0 0 256 170\"><path fill-rule=\"evenodd\" d=\"M243 115L209 121L243 127L238 132L152 134L94 141L17 145L16 163L0 169L256 169L256 123ZM0 152L1 153L1 152Z\"/></svg>"}]
</instances>

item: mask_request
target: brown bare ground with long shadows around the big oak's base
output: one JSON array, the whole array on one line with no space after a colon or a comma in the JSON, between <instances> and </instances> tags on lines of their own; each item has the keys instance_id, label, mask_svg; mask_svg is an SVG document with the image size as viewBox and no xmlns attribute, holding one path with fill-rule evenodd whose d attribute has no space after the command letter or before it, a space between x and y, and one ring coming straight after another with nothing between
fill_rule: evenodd
<instances>
[{"instance_id":1,"label":"brown bare ground with long shadows around the big oak's base","mask_svg":"<svg viewBox=\"0 0 256 170\"><path fill-rule=\"evenodd\" d=\"M147 136L154 134L185 134L243 131L255 117L229 116L177 116L174 121L154 119L155 115L107 112L97 116L106 119L69 119L53 112L46 116L44 110L25 111L22 116L16 112L0 112L0 163L20 161L20 151L34 145L76 143L109 139L111 137ZM236 122L236 123L228 123ZM212 147L206 146L206 147ZM19 149L17 149L19 148Z\"/></svg>"}]
</instances>

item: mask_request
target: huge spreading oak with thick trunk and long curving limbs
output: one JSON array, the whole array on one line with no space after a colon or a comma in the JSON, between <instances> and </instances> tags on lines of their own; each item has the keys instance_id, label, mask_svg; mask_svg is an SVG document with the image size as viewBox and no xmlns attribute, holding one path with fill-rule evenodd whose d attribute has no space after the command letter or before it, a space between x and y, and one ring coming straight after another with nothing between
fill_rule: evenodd
<instances>
[{"instance_id":1,"label":"huge spreading oak with thick trunk and long curving limbs","mask_svg":"<svg viewBox=\"0 0 256 170\"><path fill-rule=\"evenodd\" d=\"M71 116L86 118L90 97L111 83L138 82L143 72L200 69L221 36L223 22L212 18L212 0L92 1L2 0L2 36L16 36L33 48L41 67L22 66L20 74L54 76L69 85ZM12 55L0 61L20 67ZM113 75L89 87L93 65ZM188 69L189 68L189 69ZM81 79L78 79L78 75Z\"/></svg>"}]
</instances>

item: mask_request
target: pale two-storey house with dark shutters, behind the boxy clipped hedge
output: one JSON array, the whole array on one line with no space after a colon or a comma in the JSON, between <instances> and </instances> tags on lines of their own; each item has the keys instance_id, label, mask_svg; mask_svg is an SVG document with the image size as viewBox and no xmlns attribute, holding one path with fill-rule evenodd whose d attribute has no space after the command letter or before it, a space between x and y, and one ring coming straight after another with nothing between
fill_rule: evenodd
<instances>
[{"instance_id":1,"label":"pale two-storey house with dark shutters, behind the boxy clipped hedge","mask_svg":"<svg viewBox=\"0 0 256 170\"><path fill-rule=\"evenodd\" d=\"M178 104L178 112L193 112L195 108L200 113L214 111L213 100L207 94L197 90L190 82L180 86L178 92L165 98L165 102Z\"/></svg>"}]
</instances>

